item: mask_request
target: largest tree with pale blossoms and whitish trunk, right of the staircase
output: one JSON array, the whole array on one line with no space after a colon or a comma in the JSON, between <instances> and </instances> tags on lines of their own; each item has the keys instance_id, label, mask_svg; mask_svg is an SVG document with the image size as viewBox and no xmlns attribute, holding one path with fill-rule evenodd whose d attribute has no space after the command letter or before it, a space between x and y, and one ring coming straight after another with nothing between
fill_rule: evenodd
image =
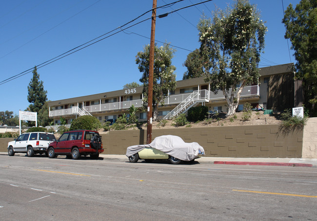
<instances>
[{"instance_id":1,"label":"largest tree with pale blossoms and whitish trunk, right of the staircase","mask_svg":"<svg viewBox=\"0 0 317 221\"><path fill-rule=\"evenodd\" d=\"M213 92L223 92L227 116L235 114L243 87L258 83L258 62L267 31L259 17L248 0L235 0L233 7L218 9L212 20L202 18L198 23L205 80L211 82Z\"/></svg>"}]
</instances>

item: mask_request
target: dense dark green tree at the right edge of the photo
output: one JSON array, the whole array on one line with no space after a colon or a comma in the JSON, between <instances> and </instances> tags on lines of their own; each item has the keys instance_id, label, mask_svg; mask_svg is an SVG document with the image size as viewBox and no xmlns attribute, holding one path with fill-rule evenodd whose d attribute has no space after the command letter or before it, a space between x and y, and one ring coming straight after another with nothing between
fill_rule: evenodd
<instances>
[{"instance_id":1,"label":"dense dark green tree at the right edge of the photo","mask_svg":"<svg viewBox=\"0 0 317 221\"><path fill-rule=\"evenodd\" d=\"M301 0L295 9L290 4L282 22L295 51L296 78L303 79L305 107L317 116L317 1Z\"/></svg>"}]
</instances>

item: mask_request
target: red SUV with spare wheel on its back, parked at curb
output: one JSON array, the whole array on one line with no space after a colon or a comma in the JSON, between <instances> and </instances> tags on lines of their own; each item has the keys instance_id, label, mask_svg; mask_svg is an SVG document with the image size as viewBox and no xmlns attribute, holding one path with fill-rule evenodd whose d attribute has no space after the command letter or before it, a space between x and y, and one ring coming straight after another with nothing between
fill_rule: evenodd
<instances>
[{"instance_id":1,"label":"red SUV with spare wheel on its back, parked at curb","mask_svg":"<svg viewBox=\"0 0 317 221\"><path fill-rule=\"evenodd\" d=\"M56 142L50 143L47 148L49 158L57 155L66 155L66 158L79 159L81 155L90 155L98 159L103 152L101 136L97 131L72 130L63 133Z\"/></svg>"}]
</instances>

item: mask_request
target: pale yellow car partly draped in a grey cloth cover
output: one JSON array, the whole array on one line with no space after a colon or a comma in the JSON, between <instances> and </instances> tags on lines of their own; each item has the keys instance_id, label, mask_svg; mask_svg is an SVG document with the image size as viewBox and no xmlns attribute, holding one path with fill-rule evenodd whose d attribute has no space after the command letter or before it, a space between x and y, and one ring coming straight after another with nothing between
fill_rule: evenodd
<instances>
[{"instance_id":1,"label":"pale yellow car partly draped in a grey cloth cover","mask_svg":"<svg viewBox=\"0 0 317 221\"><path fill-rule=\"evenodd\" d=\"M171 164L180 164L182 161L193 163L202 155L205 155L205 151L198 143L185 143L180 137L173 135L156 137L149 145L128 147L126 152L131 163L136 163L139 159L169 160Z\"/></svg>"}]
</instances>

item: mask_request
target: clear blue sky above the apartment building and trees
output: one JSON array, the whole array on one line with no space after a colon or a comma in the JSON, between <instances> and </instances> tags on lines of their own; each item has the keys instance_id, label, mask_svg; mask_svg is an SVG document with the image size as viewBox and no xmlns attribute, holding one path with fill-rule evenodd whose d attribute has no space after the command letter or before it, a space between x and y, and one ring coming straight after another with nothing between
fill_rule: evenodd
<instances>
[{"instance_id":1,"label":"clear blue sky above the apartment building and trees","mask_svg":"<svg viewBox=\"0 0 317 221\"><path fill-rule=\"evenodd\" d=\"M158 0L158 6L175 0ZM184 0L158 9L164 14L201 0ZM186 68L182 66L190 51L199 48L196 25L201 13L210 16L215 5L224 9L232 0L213 0L157 18L156 40L177 46L172 60L177 80ZM284 9L299 0L250 0L257 4L261 19L266 21L265 53L259 67L296 62L284 39L281 23ZM152 8L152 0L10 0L0 7L0 81L34 68L79 45L99 37L137 18ZM150 18L151 12L136 20ZM132 23L132 24L134 24ZM127 27L127 26L126 26ZM123 85L139 82L141 73L135 56L150 43L151 20L135 25L99 41L79 52L38 69L49 100L60 100L89 94L121 90ZM141 37L141 36L144 37ZM108 35L106 35L108 36ZM104 37L106 37L104 36ZM148 37L148 38L146 38ZM162 43L158 42L158 46ZM289 47L291 43L289 42ZM180 49L182 48L182 49ZM186 50L184 50L186 49ZM24 74L0 84L0 111L24 111L27 86L33 74Z\"/></svg>"}]
</instances>

